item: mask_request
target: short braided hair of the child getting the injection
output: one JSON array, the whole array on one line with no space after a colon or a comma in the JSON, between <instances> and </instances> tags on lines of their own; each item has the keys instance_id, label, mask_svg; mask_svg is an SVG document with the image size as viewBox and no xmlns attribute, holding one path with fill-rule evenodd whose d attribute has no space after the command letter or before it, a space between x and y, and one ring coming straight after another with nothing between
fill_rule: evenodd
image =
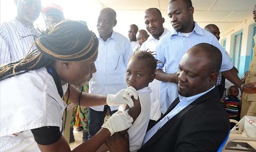
<instances>
[{"instance_id":1,"label":"short braided hair of the child getting the injection","mask_svg":"<svg viewBox=\"0 0 256 152\"><path fill-rule=\"evenodd\" d=\"M152 51L138 51L136 53L134 53L131 59L138 59L138 60L143 60L146 62L147 66L150 67L152 69L152 74L154 74L156 72L156 68L157 68L157 63L160 63L161 61L157 60L154 57L154 52Z\"/></svg>"}]
</instances>

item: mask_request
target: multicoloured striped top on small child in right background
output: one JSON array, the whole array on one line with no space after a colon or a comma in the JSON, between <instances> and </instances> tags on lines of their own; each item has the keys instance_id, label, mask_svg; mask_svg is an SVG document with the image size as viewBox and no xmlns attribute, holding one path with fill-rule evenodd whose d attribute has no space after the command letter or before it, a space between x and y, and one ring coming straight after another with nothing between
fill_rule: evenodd
<instances>
[{"instance_id":1,"label":"multicoloured striped top on small child in right background","mask_svg":"<svg viewBox=\"0 0 256 152\"><path fill-rule=\"evenodd\" d=\"M232 98L230 95L228 95L222 100L222 103L226 109L229 118L239 116L241 100L239 100L237 97Z\"/></svg>"}]
</instances>

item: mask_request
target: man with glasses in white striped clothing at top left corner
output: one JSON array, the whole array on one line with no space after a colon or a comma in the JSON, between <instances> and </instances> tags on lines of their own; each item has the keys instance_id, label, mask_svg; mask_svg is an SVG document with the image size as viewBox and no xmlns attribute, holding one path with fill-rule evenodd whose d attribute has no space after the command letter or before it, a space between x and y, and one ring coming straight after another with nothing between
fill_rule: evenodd
<instances>
[{"instance_id":1,"label":"man with glasses in white striped clothing at top left corner","mask_svg":"<svg viewBox=\"0 0 256 152\"><path fill-rule=\"evenodd\" d=\"M0 32L0 64L22 59L30 49L38 35L34 21L41 11L40 0L15 0L17 15L15 19L1 25ZM35 47L31 48L33 51Z\"/></svg>"}]
</instances>

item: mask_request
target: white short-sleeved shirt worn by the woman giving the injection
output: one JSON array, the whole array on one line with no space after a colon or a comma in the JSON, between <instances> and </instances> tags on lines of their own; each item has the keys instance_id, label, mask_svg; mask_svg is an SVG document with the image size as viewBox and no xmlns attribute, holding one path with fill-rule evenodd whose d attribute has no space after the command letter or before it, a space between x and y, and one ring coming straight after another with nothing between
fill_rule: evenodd
<instances>
[{"instance_id":1,"label":"white short-sleeved shirt worn by the woman giving the injection","mask_svg":"<svg viewBox=\"0 0 256 152\"><path fill-rule=\"evenodd\" d=\"M38 151L31 129L62 128L67 104L60 98L46 68L2 80L0 88L1 151ZM11 136L16 133L18 136Z\"/></svg>"}]
</instances>

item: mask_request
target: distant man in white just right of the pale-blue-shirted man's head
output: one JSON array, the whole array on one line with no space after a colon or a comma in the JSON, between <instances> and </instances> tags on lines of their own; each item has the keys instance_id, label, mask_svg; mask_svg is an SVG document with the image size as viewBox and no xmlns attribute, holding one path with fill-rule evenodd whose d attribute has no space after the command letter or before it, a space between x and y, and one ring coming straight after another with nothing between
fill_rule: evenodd
<instances>
[{"instance_id":1,"label":"distant man in white just right of the pale-blue-shirted man's head","mask_svg":"<svg viewBox=\"0 0 256 152\"><path fill-rule=\"evenodd\" d=\"M128 37L131 41L133 52L135 52L136 49L140 47L139 42L137 41L137 38L136 38L136 34L138 30L139 30L138 26L135 24L132 24L130 25L129 31L128 31Z\"/></svg>"}]
</instances>

